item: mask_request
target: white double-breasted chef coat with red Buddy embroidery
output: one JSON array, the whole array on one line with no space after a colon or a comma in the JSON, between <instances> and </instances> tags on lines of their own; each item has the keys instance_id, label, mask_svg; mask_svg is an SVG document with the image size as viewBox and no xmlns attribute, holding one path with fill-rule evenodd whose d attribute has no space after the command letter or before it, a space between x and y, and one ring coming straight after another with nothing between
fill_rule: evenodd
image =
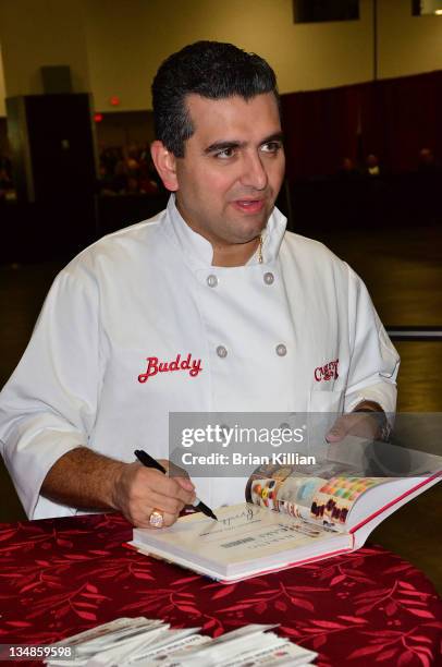
<instances>
[{"instance_id":1,"label":"white double-breasted chef coat with red Buddy embroidery","mask_svg":"<svg viewBox=\"0 0 442 667\"><path fill-rule=\"evenodd\" d=\"M364 283L285 222L274 209L262 264L216 267L172 196L59 274L0 396L2 454L29 518L75 513L39 495L75 447L167 458L169 412L351 411L365 399L394 411L398 356ZM200 371L139 381L148 357L177 354ZM244 498L242 480L241 492L196 482L213 507Z\"/></svg>"}]
</instances>

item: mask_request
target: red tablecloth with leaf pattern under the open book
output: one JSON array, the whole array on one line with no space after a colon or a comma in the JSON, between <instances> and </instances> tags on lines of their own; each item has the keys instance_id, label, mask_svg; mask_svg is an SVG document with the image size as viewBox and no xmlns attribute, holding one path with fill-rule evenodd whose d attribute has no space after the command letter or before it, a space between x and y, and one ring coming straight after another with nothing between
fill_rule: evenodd
<instances>
[{"instance_id":1,"label":"red tablecloth with leaf pattern under the open book","mask_svg":"<svg viewBox=\"0 0 442 667\"><path fill-rule=\"evenodd\" d=\"M280 622L320 667L442 664L442 601L380 547L221 585L128 549L131 535L118 514L0 524L0 644L147 616L212 635Z\"/></svg>"}]
</instances>

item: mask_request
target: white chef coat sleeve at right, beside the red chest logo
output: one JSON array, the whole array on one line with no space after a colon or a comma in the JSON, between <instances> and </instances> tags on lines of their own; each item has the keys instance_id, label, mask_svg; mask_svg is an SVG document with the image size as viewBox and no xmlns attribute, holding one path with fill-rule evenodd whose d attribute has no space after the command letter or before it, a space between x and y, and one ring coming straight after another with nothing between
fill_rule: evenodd
<instances>
[{"instance_id":1,"label":"white chef coat sleeve at right, beside the red chest logo","mask_svg":"<svg viewBox=\"0 0 442 667\"><path fill-rule=\"evenodd\" d=\"M344 411L375 401L386 413L396 408L400 357L382 326L367 288L348 270L349 369Z\"/></svg>"}]
</instances>

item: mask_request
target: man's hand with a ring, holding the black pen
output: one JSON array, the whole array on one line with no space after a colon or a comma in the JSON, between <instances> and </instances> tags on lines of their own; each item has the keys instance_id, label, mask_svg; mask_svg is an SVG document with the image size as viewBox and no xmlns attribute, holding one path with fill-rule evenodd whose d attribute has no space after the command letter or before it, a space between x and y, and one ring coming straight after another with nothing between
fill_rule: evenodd
<instances>
[{"instance_id":1,"label":"man's hand with a ring, holding the black pen","mask_svg":"<svg viewBox=\"0 0 442 667\"><path fill-rule=\"evenodd\" d=\"M160 461L169 468L168 461ZM163 525L172 525L185 505L195 500L195 486L186 477L168 477L158 470L128 463L121 468L114 483L112 505L137 527L151 527L154 510L163 514Z\"/></svg>"}]
</instances>

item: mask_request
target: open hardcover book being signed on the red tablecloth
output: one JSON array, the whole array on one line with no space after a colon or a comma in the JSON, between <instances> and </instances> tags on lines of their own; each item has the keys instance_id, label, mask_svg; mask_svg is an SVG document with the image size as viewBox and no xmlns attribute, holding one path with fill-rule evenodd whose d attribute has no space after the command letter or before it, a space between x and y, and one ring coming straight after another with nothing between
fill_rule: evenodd
<instances>
[{"instance_id":1,"label":"open hardcover book being signed on the red tablecloth","mask_svg":"<svg viewBox=\"0 0 442 667\"><path fill-rule=\"evenodd\" d=\"M440 471L379 477L339 463L318 468L306 475L262 465L246 484L246 502L216 509L218 522L194 513L169 529L134 529L131 544L231 583L358 549L383 519L441 480Z\"/></svg>"}]
</instances>

